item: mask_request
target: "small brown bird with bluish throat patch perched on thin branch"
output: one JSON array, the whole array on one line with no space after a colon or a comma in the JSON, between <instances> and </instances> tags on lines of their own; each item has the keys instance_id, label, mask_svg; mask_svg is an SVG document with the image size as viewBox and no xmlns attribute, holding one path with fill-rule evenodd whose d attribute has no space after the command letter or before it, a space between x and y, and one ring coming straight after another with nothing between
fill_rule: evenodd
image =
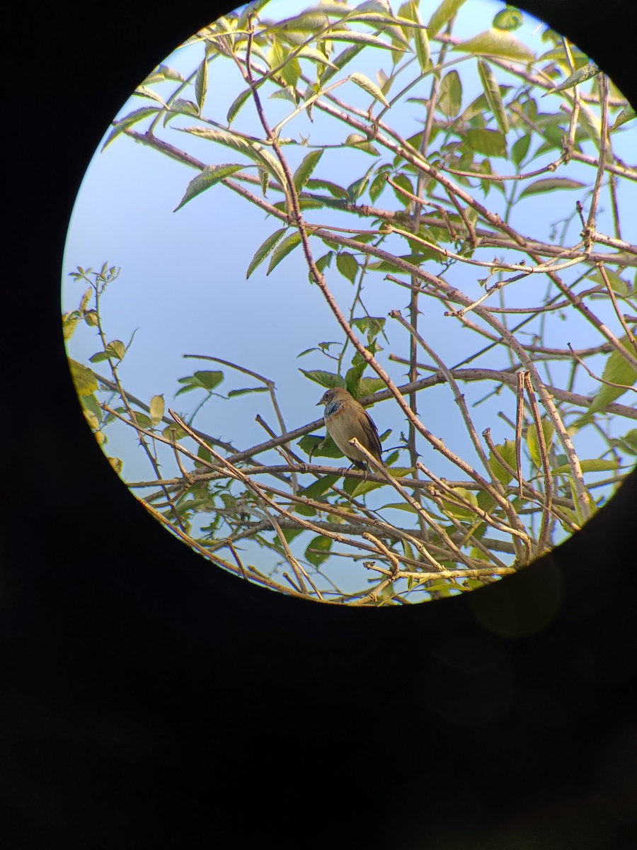
<instances>
[{"instance_id":1,"label":"small brown bird with bluish throat patch perched on thin branch","mask_svg":"<svg viewBox=\"0 0 637 850\"><path fill-rule=\"evenodd\" d=\"M317 402L317 407L318 405L325 405L325 427L347 460L351 461L357 469L367 468L363 453L347 442L356 437L360 445L363 445L370 455L382 463L378 430L364 406L352 398L347 389L341 387L328 389L323 398Z\"/></svg>"}]
</instances>

